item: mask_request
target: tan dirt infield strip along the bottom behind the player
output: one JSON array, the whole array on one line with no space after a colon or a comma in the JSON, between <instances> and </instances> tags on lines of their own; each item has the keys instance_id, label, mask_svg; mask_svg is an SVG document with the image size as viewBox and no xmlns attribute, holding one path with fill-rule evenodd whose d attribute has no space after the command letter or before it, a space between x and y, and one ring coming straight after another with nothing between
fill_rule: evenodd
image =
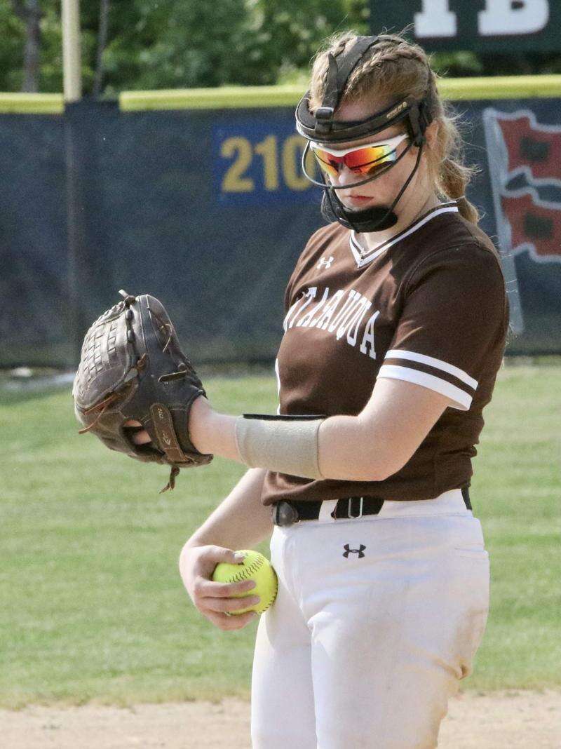
<instances>
[{"instance_id":1,"label":"tan dirt infield strip along the bottom behind the player","mask_svg":"<svg viewBox=\"0 0 561 749\"><path fill-rule=\"evenodd\" d=\"M461 694L439 749L561 749L561 692ZM249 705L32 706L0 710L3 749L249 749Z\"/></svg>"}]
</instances>

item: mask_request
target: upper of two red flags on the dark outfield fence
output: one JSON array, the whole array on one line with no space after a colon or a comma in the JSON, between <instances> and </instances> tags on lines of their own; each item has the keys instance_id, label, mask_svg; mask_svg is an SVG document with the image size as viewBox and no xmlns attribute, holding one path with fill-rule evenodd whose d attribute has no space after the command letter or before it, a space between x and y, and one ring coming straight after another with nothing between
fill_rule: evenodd
<instances>
[{"instance_id":1,"label":"upper of two red flags on the dark outfield fence","mask_svg":"<svg viewBox=\"0 0 561 749\"><path fill-rule=\"evenodd\" d=\"M528 110L505 115L496 121L506 148L506 171L530 172L531 177L548 182L561 181L561 127L536 122Z\"/></svg>"}]
</instances>

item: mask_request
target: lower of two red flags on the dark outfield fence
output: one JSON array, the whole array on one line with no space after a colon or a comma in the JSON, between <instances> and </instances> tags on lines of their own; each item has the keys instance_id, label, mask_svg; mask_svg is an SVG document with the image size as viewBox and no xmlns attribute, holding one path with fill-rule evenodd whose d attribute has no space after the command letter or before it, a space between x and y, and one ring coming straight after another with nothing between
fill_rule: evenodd
<instances>
[{"instance_id":1,"label":"lower of two red flags on the dark outfield fence","mask_svg":"<svg viewBox=\"0 0 561 749\"><path fill-rule=\"evenodd\" d=\"M500 201L512 252L528 250L534 260L561 262L561 203L542 201L531 188L505 192Z\"/></svg>"}]
</instances>

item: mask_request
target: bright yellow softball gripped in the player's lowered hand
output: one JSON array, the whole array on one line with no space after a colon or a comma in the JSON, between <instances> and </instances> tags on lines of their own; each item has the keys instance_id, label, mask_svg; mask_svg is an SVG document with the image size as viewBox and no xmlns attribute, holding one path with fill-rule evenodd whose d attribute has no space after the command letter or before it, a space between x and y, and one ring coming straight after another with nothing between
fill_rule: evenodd
<instances>
[{"instance_id":1,"label":"bright yellow softball gripped in the player's lowered hand","mask_svg":"<svg viewBox=\"0 0 561 749\"><path fill-rule=\"evenodd\" d=\"M279 589L279 581L276 578L276 572L271 567L269 560L259 554L258 551L242 549L236 554L243 554L241 564L228 564L220 562L213 571L212 579L217 583L240 583L242 580L255 580L255 588L244 593L238 593L232 598L244 598L248 595L258 595L261 598L258 604L248 606L245 609L231 611L234 616L245 613L246 611L255 611L263 613L266 611L276 598L276 592Z\"/></svg>"}]
</instances>

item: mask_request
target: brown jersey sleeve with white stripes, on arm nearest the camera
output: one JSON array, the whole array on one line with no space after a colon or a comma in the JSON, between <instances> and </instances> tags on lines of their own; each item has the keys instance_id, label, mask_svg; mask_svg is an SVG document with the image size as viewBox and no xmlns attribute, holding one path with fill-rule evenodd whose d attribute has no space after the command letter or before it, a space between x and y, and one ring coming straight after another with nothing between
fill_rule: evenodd
<instances>
[{"instance_id":1,"label":"brown jersey sleeve with white stripes, on arm nearest the camera","mask_svg":"<svg viewBox=\"0 0 561 749\"><path fill-rule=\"evenodd\" d=\"M507 309L503 273L488 249L469 243L434 252L407 281L377 376L428 387L469 410L485 367L503 355Z\"/></svg>"}]
</instances>

